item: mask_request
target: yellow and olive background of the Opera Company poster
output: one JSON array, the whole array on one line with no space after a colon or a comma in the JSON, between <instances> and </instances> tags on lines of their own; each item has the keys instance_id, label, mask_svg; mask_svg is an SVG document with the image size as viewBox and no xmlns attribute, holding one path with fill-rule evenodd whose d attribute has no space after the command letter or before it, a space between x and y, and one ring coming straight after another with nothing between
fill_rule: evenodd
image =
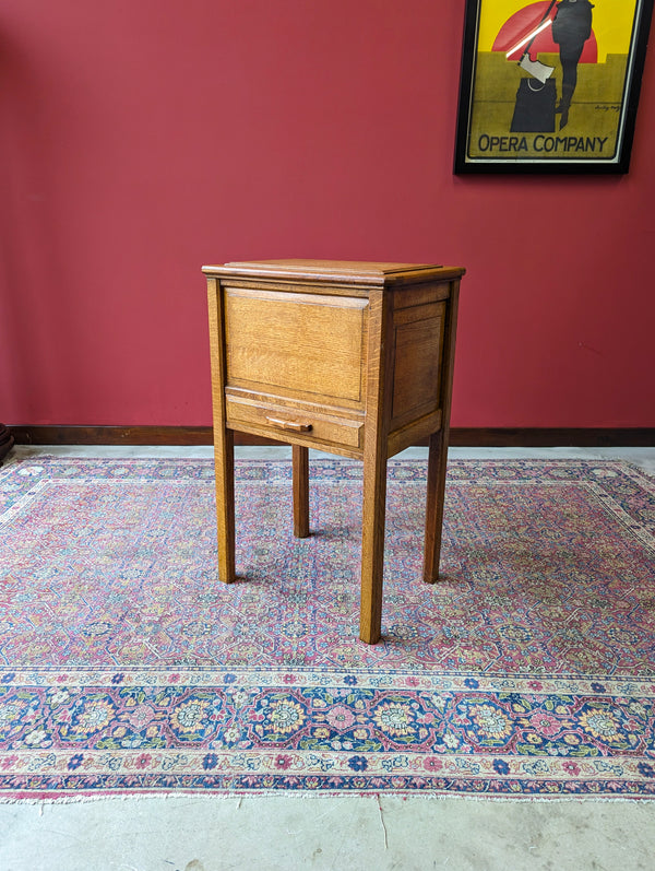
<instances>
[{"instance_id":1,"label":"yellow and olive background of the Opera Company poster","mask_svg":"<svg viewBox=\"0 0 655 871\"><path fill-rule=\"evenodd\" d=\"M515 60L491 47L503 24L525 0L480 0L478 42L469 115L469 160L608 161L617 153L623 93L638 0L595 0L592 27L598 46L597 63L579 63L577 85L568 121L559 129L512 132L512 117L521 79L531 90L540 83ZM533 55L533 58L535 56ZM561 97L559 54L540 52L538 60L555 68L551 80ZM525 87L525 84L523 85ZM552 83L548 85L552 90Z\"/></svg>"}]
</instances>

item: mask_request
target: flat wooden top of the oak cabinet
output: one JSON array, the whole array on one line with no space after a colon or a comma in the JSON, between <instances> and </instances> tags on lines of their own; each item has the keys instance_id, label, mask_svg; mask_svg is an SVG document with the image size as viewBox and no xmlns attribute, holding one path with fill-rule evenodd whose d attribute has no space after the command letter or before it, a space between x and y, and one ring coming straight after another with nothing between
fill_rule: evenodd
<instances>
[{"instance_id":1,"label":"flat wooden top of the oak cabinet","mask_svg":"<svg viewBox=\"0 0 655 871\"><path fill-rule=\"evenodd\" d=\"M306 279L323 282L391 285L416 281L458 278L464 270L436 263L369 262L361 260L250 260L205 266L207 275Z\"/></svg>"}]
</instances>

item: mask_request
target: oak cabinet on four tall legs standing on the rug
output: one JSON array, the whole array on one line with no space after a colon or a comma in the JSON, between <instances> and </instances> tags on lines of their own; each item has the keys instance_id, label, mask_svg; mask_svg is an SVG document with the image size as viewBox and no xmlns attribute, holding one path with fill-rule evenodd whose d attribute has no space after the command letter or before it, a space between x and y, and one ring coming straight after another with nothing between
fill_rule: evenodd
<instances>
[{"instance_id":1,"label":"oak cabinet on four tall legs standing on the rug","mask_svg":"<svg viewBox=\"0 0 655 871\"><path fill-rule=\"evenodd\" d=\"M359 637L380 639L386 460L429 437L424 579L439 577L463 269L261 260L207 278L218 577L235 579L234 432L293 445L294 532L308 448L364 460Z\"/></svg>"}]
</instances>

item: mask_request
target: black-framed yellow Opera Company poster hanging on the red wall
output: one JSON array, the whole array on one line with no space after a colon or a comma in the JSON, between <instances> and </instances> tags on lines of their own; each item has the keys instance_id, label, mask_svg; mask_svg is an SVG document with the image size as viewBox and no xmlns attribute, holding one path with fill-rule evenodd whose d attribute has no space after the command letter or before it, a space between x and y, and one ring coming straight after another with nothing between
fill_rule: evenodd
<instances>
[{"instance_id":1,"label":"black-framed yellow Opera Company poster hanging on the red wall","mask_svg":"<svg viewBox=\"0 0 655 871\"><path fill-rule=\"evenodd\" d=\"M466 0L455 173L627 173L653 0Z\"/></svg>"}]
</instances>

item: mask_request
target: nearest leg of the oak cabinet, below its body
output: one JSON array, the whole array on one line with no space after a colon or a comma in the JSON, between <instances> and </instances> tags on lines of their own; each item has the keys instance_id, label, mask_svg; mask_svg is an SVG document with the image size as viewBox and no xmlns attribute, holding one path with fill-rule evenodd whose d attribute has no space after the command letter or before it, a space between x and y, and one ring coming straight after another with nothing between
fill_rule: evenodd
<instances>
[{"instance_id":1,"label":"nearest leg of the oak cabinet, below its body","mask_svg":"<svg viewBox=\"0 0 655 871\"><path fill-rule=\"evenodd\" d=\"M380 640L385 508L386 457L365 457L359 637L366 644L377 644Z\"/></svg>"}]
</instances>

